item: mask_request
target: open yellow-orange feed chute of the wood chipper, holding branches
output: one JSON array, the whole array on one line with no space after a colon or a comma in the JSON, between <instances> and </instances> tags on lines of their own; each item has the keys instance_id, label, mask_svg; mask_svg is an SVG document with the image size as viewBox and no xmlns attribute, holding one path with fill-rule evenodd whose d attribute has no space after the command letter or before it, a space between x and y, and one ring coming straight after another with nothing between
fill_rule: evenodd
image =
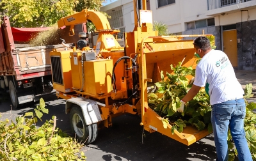
<instances>
[{"instance_id":1,"label":"open yellow-orange feed chute of the wood chipper, holding branches","mask_svg":"<svg viewBox=\"0 0 256 161\"><path fill-rule=\"evenodd\" d=\"M207 129L197 130L195 126L192 127L189 124L183 132L174 130L174 134L172 134L172 125L164 123L164 118L148 107L148 82L152 84L161 81L160 71L163 71L164 77L166 77L166 72L173 72L170 65L175 66L179 62L182 62L182 66L196 68L198 59L194 57L193 40L180 40L170 36L148 36L141 41L140 50L141 125L145 130L157 131L188 146L211 134ZM211 118L211 116L209 117Z\"/></svg>"}]
</instances>

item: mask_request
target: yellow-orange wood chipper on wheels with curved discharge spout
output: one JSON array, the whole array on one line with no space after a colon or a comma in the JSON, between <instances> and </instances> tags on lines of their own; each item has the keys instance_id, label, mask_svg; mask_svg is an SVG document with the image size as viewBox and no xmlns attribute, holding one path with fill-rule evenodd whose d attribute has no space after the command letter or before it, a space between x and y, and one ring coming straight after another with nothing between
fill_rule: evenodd
<instances>
[{"instance_id":1,"label":"yellow-orange wood chipper on wheels with curved discharge spout","mask_svg":"<svg viewBox=\"0 0 256 161\"><path fill-rule=\"evenodd\" d=\"M124 33L125 47L115 38L120 31L111 29L99 11L83 10L58 21L60 28L70 27L70 36L77 34L74 25L88 20L99 33L95 48L88 46L88 34L78 33L81 40L70 44L70 49L51 52L56 95L67 100L65 110L72 132L86 144L95 141L99 125L111 127L111 119L125 113L141 116L140 125L148 132L159 132L186 145L209 135L207 130L189 126L172 134L172 125L164 127L162 118L148 107L148 82L161 80L159 69L172 73L170 65L180 61L195 68L193 38L189 37L199 35L158 36L153 31L152 11L147 10L145 0L142 4L140 19L134 14L134 22L138 22L134 31ZM136 6L134 1L134 11Z\"/></svg>"}]
</instances>

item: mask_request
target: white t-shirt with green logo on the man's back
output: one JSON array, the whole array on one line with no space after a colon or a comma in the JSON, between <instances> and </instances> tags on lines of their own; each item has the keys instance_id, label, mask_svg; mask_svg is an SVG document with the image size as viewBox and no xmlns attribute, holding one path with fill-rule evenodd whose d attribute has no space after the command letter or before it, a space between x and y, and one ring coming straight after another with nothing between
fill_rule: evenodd
<instances>
[{"instance_id":1,"label":"white t-shirt with green logo on the man's back","mask_svg":"<svg viewBox=\"0 0 256 161\"><path fill-rule=\"evenodd\" d=\"M211 50L196 66L195 86L209 84L210 104L243 98L244 91L237 81L228 56L221 50Z\"/></svg>"}]
</instances>

